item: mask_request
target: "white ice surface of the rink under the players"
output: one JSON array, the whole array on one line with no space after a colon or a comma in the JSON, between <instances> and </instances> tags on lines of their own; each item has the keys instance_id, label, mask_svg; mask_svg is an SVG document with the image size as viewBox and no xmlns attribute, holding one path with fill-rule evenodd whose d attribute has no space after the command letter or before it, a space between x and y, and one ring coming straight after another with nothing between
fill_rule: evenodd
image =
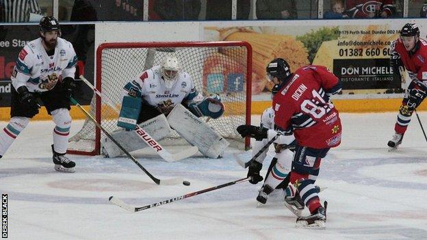
<instances>
[{"instance_id":1,"label":"white ice surface of the rink under the players","mask_svg":"<svg viewBox=\"0 0 427 240\"><path fill-rule=\"evenodd\" d=\"M280 192L257 208L261 183L239 183L130 213L109 203L109 196L144 206L244 178L246 170L232 152L222 159L196 156L175 163L134 152L157 178L182 177L191 185L155 185L125 157L70 156L76 172L55 172L53 122L31 122L0 159L8 239L427 239L427 142L414 114L403 144L389 152L396 114L341 114L341 146L322 161L316 182L327 187L320 193L328 201L324 230L296 228ZM427 127L427 113L419 117ZM79 124L74 122L73 131ZM250 152L242 157L249 160ZM272 152L262 174L271 158Z\"/></svg>"}]
</instances>

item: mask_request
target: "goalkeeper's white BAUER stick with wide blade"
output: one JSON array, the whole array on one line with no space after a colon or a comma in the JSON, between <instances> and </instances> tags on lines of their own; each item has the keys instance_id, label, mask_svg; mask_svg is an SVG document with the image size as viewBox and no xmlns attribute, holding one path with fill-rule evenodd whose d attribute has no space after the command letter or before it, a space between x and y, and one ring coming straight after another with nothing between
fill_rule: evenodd
<instances>
[{"instance_id":1,"label":"goalkeeper's white BAUER stick with wide blade","mask_svg":"<svg viewBox=\"0 0 427 240\"><path fill-rule=\"evenodd\" d=\"M98 96L103 98L103 101L105 101L105 103L107 103L109 107L112 107L112 109L114 109L116 113L120 113L120 111L114 105L113 101L111 101L107 96L99 92L99 90L97 90L94 87L94 85L92 85L92 83L88 81L88 79L83 77L83 75L80 75L80 79L83 80L83 82L86 83L86 85L88 85L90 88L92 88L92 90L94 90L94 92ZM185 150L182 150L181 152L170 153L163 146L161 146L159 142L155 141L153 137L151 137L148 133L146 133L144 129L140 128L138 124L135 125L135 130L133 131L135 131L136 135L138 135L138 137L140 137L140 139L142 139L148 146L153 148L153 150L155 150L155 152L157 152L157 154L162 159L168 162L174 162L174 161L179 161L181 159L186 159L187 157L191 157L192 155L195 155L198 152L198 148L196 146L191 146L189 148L185 148Z\"/></svg>"}]
</instances>

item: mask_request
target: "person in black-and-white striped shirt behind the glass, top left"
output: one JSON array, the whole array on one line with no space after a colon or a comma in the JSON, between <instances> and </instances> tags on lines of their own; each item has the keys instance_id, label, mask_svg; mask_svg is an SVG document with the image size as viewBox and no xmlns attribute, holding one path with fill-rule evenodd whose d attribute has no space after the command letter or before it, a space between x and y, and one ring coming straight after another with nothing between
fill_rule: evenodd
<instances>
[{"instance_id":1,"label":"person in black-and-white striped shirt behind the glass, top left","mask_svg":"<svg viewBox=\"0 0 427 240\"><path fill-rule=\"evenodd\" d=\"M29 22L29 14L41 14L37 0L1 0L1 21L8 23Z\"/></svg>"}]
</instances>

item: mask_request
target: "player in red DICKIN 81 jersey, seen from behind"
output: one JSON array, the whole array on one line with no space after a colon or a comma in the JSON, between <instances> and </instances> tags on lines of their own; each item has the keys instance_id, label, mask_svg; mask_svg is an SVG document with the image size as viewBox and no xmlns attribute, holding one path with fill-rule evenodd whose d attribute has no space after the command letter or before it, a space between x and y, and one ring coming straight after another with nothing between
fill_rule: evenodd
<instances>
[{"instance_id":1,"label":"player in red DICKIN 81 jersey, seen from behind","mask_svg":"<svg viewBox=\"0 0 427 240\"><path fill-rule=\"evenodd\" d=\"M297 142L290 182L298 191L294 197L285 200L289 204L300 198L309 208L311 215L298 217L298 225L322 227L326 222L326 209L320 203L314 183L322 158L330 148L341 143L341 120L329 101L331 95L341 91L341 83L324 66L304 66L292 73L289 64L281 58L268 64L267 73L274 83L281 86L272 105L276 131L283 135L293 133ZM257 126L242 125L237 131L242 137L274 137ZM259 170L261 168L249 169L248 176L257 178Z\"/></svg>"}]
</instances>

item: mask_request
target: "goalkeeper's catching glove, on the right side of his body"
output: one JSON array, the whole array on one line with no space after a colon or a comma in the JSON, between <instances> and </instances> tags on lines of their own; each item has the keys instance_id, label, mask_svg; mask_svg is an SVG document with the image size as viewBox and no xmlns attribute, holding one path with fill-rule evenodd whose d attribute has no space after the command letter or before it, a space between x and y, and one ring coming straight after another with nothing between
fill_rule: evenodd
<instances>
[{"instance_id":1,"label":"goalkeeper's catching glove, on the right side of his body","mask_svg":"<svg viewBox=\"0 0 427 240\"><path fill-rule=\"evenodd\" d=\"M221 98L217 94L208 96L198 103L190 103L188 107L190 111L199 118L201 116L207 116L216 119L224 114L224 105L221 103Z\"/></svg>"}]
</instances>

